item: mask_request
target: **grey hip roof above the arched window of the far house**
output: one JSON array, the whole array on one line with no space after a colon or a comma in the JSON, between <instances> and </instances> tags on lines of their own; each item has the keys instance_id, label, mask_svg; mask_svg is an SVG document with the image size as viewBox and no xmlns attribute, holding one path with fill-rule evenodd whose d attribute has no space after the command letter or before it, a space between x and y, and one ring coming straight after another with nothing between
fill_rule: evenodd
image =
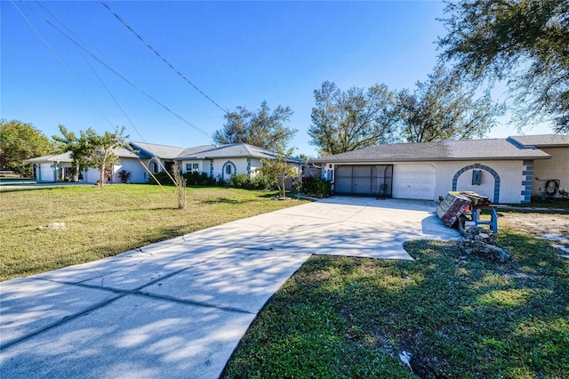
<instances>
[{"instance_id":1,"label":"grey hip roof above the arched window of the far house","mask_svg":"<svg viewBox=\"0 0 569 379\"><path fill-rule=\"evenodd\" d=\"M256 157L260 159L274 159L276 154L268 149L261 149L247 143L231 143L228 145L204 145L184 149L177 160L188 159L215 159L235 157ZM289 162L303 162L299 158L289 157Z\"/></svg>"}]
</instances>

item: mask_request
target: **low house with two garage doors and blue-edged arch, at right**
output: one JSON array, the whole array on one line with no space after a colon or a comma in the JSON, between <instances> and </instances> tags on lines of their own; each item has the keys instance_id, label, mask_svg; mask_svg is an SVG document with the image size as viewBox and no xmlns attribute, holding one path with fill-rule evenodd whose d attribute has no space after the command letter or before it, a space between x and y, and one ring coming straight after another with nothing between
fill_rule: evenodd
<instances>
[{"instance_id":1,"label":"low house with two garage doors and blue-edged arch, at right","mask_svg":"<svg viewBox=\"0 0 569 379\"><path fill-rule=\"evenodd\" d=\"M493 203L529 203L546 179L569 187L569 136L386 144L311 162L336 194L436 200L470 190Z\"/></svg>"}]
</instances>

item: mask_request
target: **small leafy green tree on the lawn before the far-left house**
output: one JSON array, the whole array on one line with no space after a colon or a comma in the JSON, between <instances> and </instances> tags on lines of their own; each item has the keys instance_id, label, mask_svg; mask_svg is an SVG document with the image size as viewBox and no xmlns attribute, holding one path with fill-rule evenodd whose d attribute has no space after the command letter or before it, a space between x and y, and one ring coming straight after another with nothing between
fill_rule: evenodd
<instances>
[{"instance_id":1,"label":"small leafy green tree on the lawn before the far-left house","mask_svg":"<svg viewBox=\"0 0 569 379\"><path fill-rule=\"evenodd\" d=\"M64 125L60 125L60 133L62 137L54 135L52 139L58 143L60 151L71 152L71 157L76 164L75 173L85 171L90 167L98 168L100 171L98 185L102 188L108 168L119 162L115 149L124 148L128 145L128 142L125 141L128 136L123 135L124 127L116 128L115 133L105 132L102 135L89 128L85 131L79 131L79 137L77 137L75 133L69 132Z\"/></svg>"}]
</instances>

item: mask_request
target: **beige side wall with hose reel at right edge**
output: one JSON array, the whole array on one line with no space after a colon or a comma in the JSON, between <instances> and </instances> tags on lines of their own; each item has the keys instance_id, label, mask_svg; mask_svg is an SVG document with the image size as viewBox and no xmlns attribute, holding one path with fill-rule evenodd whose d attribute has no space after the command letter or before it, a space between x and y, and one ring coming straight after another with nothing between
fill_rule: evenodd
<instances>
[{"instance_id":1,"label":"beige side wall with hose reel at right edge","mask_svg":"<svg viewBox=\"0 0 569 379\"><path fill-rule=\"evenodd\" d=\"M569 189L569 148L540 149L551 158L533 161L532 194L539 196L539 189L543 188L549 179L558 179L559 189Z\"/></svg>"}]
</instances>

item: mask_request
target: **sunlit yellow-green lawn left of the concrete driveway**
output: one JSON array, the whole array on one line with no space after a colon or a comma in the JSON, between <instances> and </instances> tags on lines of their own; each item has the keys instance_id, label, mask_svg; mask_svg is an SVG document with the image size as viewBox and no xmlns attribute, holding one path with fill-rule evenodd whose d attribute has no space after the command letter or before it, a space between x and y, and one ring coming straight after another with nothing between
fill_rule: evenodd
<instances>
[{"instance_id":1,"label":"sunlit yellow-green lawn left of the concrete driveway","mask_svg":"<svg viewBox=\"0 0 569 379\"><path fill-rule=\"evenodd\" d=\"M0 191L0 280L26 277L124 253L167 238L262 214L297 200L276 192L188 188L180 211L172 187L67 186ZM40 229L65 222L65 230Z\"/></svg>"}]
</instances>

